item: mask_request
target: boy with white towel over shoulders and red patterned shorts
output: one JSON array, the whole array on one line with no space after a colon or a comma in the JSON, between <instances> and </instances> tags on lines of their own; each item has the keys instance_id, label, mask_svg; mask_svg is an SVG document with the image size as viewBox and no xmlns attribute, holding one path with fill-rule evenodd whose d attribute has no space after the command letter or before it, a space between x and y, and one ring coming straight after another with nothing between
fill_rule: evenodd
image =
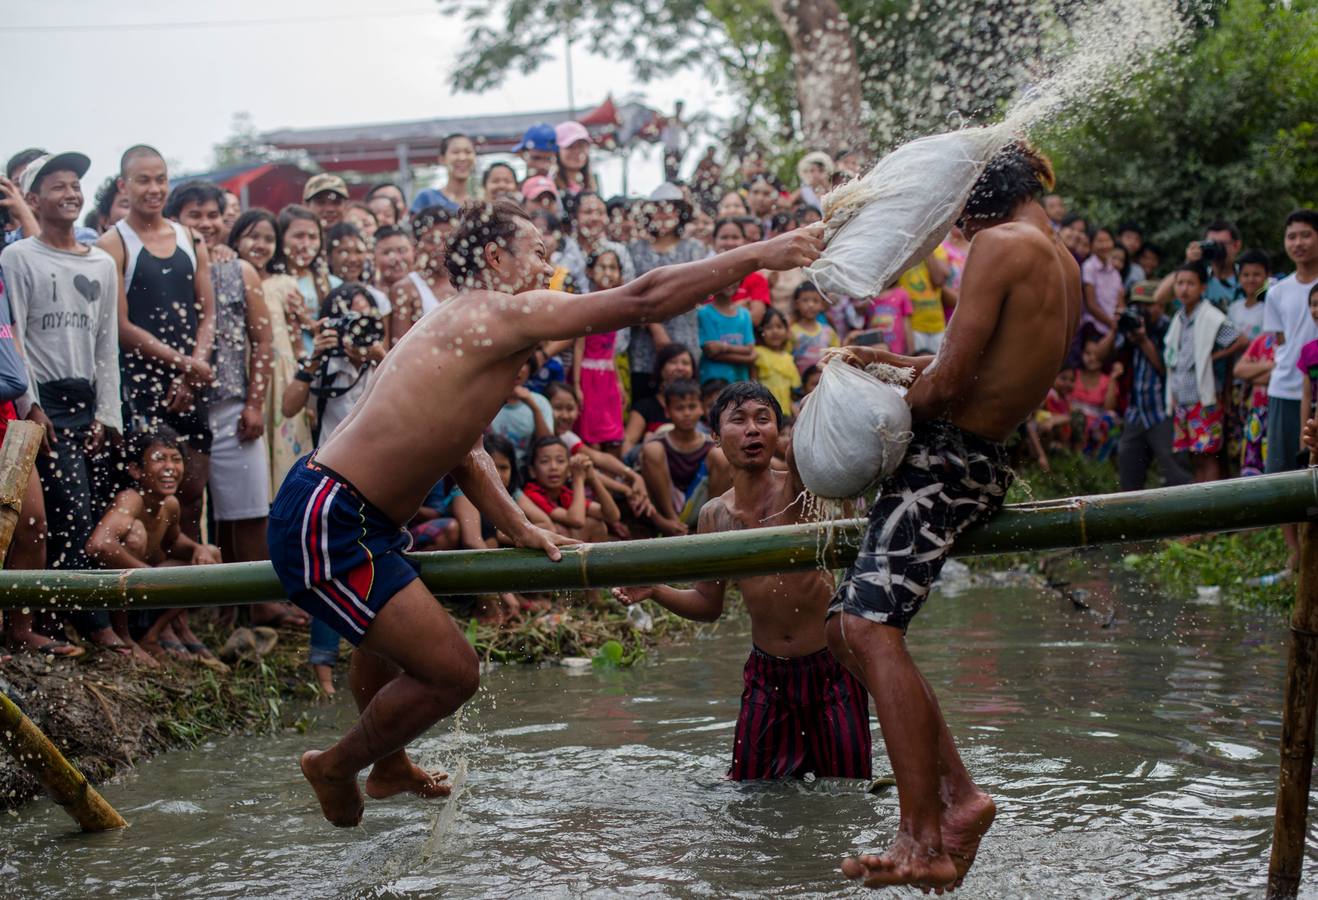
<instances>
[{"instance_id":1,"label":"boy with white towel over shoulders and red patterned shorts","mask_svg":"<svg viewBox=\"0 0 1318 900\"><path fill-rule=\"evenodd\" d=\"M1222 477L1218 461L1223 439L1223 410L1219 403L1214 362L1244 349L1244 335L1226 314L1203 303L1207 270L1186 262L1172 282L1181 302L1166 332L1162 356L1166 360L1166 412L1172 416L1172 449L1190 453L1195 481Z\"/></svg>"}]
</instances>

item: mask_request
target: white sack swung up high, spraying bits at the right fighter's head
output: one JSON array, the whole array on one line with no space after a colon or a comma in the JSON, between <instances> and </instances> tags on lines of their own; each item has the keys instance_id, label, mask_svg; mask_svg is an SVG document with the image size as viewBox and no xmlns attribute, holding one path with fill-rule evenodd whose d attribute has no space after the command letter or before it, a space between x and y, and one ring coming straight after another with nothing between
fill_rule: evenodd
<instances>
[{"instance_id":1,"label":"white sack swung up high, spraying bits at the right fighter's head","mask_svg":"<svg viewBox=\"0 0 1318 900\"><path fill-rule=\"evenodd\" d=\"M874 296L948 236L985 165L1011 138L966 128L903 144L824 196L825 248L807 274L829 299Z\"/></svg>"}]
</instances>

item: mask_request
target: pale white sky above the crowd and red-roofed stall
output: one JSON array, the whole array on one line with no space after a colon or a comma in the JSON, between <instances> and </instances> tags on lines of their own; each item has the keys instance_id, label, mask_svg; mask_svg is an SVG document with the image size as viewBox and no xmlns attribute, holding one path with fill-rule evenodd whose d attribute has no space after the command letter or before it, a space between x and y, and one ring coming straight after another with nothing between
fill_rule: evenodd
<instances>
[{"instance_id":1,"label":"pale white sky above the crowd and red-roofed stall","mask_svg":"<svg viewBox=\"0 0 1318 900\"><path fill-rule=\"evenodd\" d=\"M530 76L481 95L452 94L449 72L467 29L443 17L435 0L3 0L0 7L11 79L0 161L26 146L86 153L88 204L133 144L158 148L178 173L210 167L211 146L229 134L236 112L249 112L258 130L269 130L568 105L561 45ZM178 26L250 20L258 24ZM629 66L580 46L572 58L581 111L608 92L616 99L637 92L664 111L679 98L688 113L731 109L708 72L639 84ZM688 153L688 165L697 155ZM605 192L619 191L619 161L601 154L596 166ZM633 192L648 192L660 179L658 152L638 150Z\"/></svg>"}]
</instances>

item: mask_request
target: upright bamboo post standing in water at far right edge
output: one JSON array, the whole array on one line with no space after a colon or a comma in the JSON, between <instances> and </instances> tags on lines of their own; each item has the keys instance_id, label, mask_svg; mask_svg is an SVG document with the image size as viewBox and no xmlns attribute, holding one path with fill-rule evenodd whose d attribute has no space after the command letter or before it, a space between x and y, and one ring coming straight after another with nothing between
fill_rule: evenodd
<instances>
[{"instance_id":1,"label":"upright bamboo post standing in water at far right edge","mask_svg":"<svg viewBox=\"0 0 1318 900\"><path fill-rule=\"evenodd\" d=\"M1310 464L1318 455L1310 453ZM1290 659L1281 710L1281 773L1277 813L1272 820L1272 859L1268 897L1293 897L1300 891L1309 820L1309 783L1314 764L1314 722L1318 717L1318 522L1300 526L1300 577L1290 614Z\"/></svg>"}]
</instances>

